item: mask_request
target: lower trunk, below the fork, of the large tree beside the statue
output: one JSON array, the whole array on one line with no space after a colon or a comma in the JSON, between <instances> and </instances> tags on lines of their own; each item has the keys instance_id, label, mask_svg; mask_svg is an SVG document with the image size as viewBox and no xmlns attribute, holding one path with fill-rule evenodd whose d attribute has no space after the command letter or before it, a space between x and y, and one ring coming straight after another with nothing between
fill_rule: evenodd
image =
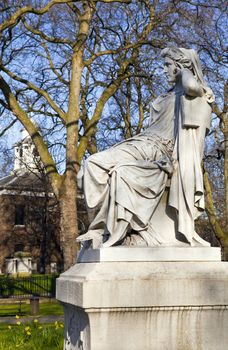
<instances>
[{"instance_id":1,"label":"lower trunk, below the fork, of the large tree beside the statue","mask_svg":"<svg viewBox=\"0 0 228 350\"><path fill-rule=\"evenodd\" d=\"M64 258L64 271L76 262L77 227L77 183L73 172L66 172L60 190L60 240Z\"/></svg>"}]
</instances>

